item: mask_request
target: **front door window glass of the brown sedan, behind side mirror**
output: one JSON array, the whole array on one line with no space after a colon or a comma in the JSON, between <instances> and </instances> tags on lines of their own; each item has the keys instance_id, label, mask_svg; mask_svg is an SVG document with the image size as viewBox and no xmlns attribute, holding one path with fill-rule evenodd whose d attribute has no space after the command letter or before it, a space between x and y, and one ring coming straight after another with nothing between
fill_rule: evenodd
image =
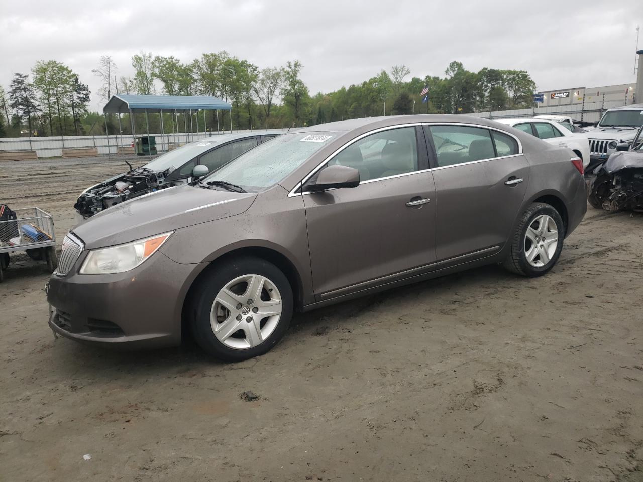
<instances>
[{"instance_id":1,"label":"front door window glass of the brown sedan, behind side mirror","mask_svg":"<svg viewBox=\"0 0 643 482\"><path fill-rule=\"evenodd\" d=\"M359 171L359 181L417 171L415 127L382 130L350 144L327 166L348 166Z\"/></svg>"}]
</instances>

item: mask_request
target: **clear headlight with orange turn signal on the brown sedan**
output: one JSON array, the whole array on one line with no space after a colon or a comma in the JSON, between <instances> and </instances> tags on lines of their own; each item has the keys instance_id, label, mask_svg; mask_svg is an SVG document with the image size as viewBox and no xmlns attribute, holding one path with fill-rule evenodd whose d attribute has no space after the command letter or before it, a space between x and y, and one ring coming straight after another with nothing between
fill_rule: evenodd
<instances>
[{"instance_id":1,"label":"clear headlight with orange turn signal on the brown sedan","mask_svg":"<svg viewBox=\"0 0 643 482\"><path fill-rule=\"evenodd\" d=\"M131 243L93 249L87 254L87 258L80 268L80 274L108 274L134 269L152 256L172 233L165 233Z\"/></svg>"}]
</instances>

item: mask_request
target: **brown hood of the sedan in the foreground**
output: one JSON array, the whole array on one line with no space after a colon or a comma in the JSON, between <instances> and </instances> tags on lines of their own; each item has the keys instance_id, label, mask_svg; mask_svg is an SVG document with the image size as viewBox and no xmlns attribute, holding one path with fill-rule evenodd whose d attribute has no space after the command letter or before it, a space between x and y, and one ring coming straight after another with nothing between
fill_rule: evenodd
<instances>
[{"instance_id":1,"label":"brown hood of the sedan in the foreground","mask_svg":"<svg viewBox=\"0 0 643 482\"><path fill-rule=\"evenodd\" d=\"M177 186L117 204L72 231L87 249L120 244L238 215L248 210L256 196Z\"/></svg>"}]
</instances>

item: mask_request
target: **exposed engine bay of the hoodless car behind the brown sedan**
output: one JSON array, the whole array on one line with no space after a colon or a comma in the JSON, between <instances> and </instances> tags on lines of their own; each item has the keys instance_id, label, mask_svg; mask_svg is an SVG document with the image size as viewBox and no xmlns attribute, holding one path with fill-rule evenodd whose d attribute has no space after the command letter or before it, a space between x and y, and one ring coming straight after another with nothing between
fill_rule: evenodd
<instances>
[{"instance_id":1,"label":"exposed engine bay of the hoodless car behind the brown sedan","mask_svg":"<svg viewBox=\"0 0 643 482\"><path fill-rule=\"evenodd\" d=\"M139 197L143 194L158 191L159 189L170 188L180 184L186 184L192 178L176 179L167 181L172 169L163 172L156 172L146 167L139 167L130 170L126 174L113 177L104 183L96 184L79 197L74 208L84 219L92 217L100 211L120 204L127 199Z\"/></svg>"}]
</instances>

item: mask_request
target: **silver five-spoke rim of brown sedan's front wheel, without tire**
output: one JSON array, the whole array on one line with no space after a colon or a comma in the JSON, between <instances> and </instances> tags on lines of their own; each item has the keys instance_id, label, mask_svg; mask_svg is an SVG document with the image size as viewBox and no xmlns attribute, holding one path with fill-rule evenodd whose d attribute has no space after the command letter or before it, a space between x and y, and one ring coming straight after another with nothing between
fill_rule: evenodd
<instances>
[{"instance_id":1,"label":"silver five-spoke rim of brown sedan's front wheel, without tire","mask_svg":"<svg viewBox=\"0 0 643 482\"><path fill-rule=\"evenodd\" d=\"M229 281L212 303L210 325L228 348L248 350L266 341L282 314L282 297L273 281L245 274Z\"/></svg>"}]
</instances>

